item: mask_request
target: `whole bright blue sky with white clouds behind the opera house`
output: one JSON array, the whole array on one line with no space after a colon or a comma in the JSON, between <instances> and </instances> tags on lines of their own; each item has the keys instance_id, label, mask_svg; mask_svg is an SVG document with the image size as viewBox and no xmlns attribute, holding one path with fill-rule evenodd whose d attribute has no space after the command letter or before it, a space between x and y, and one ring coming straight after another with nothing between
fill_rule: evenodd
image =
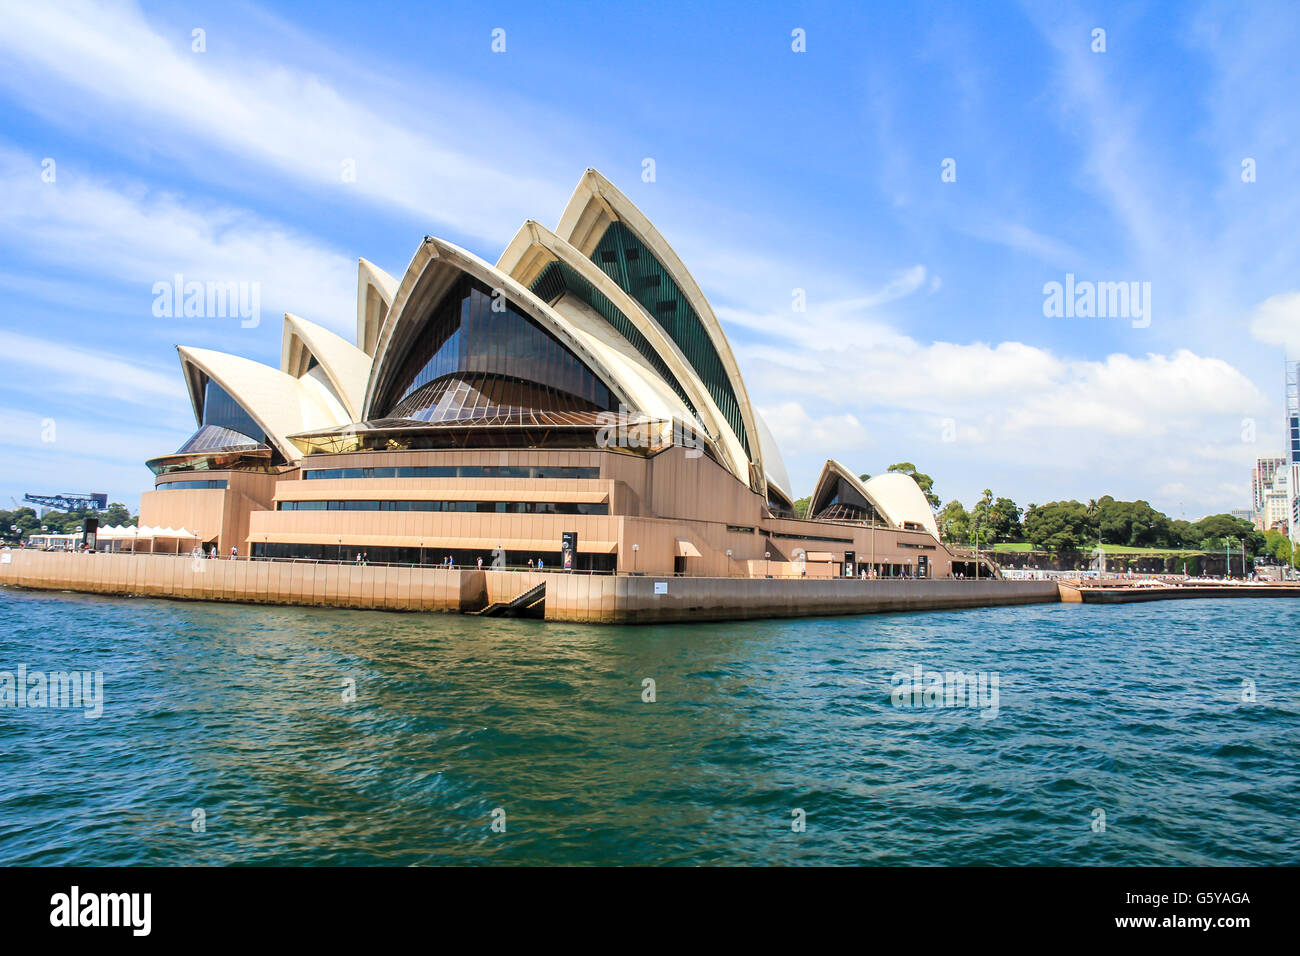
<instances>
[{"instance_id":1,"label":"whole bright blue sky with white clouds behind the opera house","mask_svg":"<svg viewBox=\"0 0 1300 956\"><path fill-rule=\"evenodd\" d=\"M906 459L945 501L1109 493L1195 519L1245 507L1254 458L1280 453L1283 355L1300 356L1295 5L4 17L6 505L103 490L134 507L144 459L194 429L176 345L278 364L285 311L351 337L358 256L400 276L433 234L495 261L525 219L555 225L588 166L708 295L797 496L828 457ZM259 282L261 323L155 317L176 273ZM1044 316L1067 273L1149 282L1149 325Z\"/></svg>"}]
</instances>

